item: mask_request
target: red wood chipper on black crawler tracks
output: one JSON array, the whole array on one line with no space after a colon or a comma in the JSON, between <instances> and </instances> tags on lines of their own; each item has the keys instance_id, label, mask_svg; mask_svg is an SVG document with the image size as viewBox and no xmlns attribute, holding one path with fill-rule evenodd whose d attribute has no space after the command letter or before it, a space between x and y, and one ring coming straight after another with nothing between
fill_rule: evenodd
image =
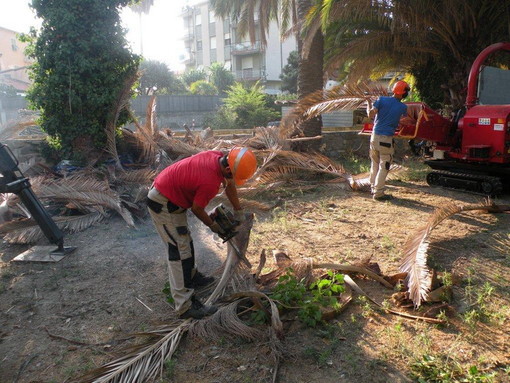
<instances>
[{"instance_id":1,"label":"red wood chipper on black crawler tracks","mask_svg":"<svg viewBox=\"0 0 510 383\"><path fill-rule=\"evenodd\" d=\"M408 117L395 135L426 143L431 154L426 163L433 169L427 175L429 185L496 195L510 181L510 71L485 66L497 51L510 52L510 43L490 45L478 55L469 73L465 107L453 117L445 118L424 103L406 102ZM366 124L362 133L371 131L372 124Z\"/></svg>"}]
</instances>

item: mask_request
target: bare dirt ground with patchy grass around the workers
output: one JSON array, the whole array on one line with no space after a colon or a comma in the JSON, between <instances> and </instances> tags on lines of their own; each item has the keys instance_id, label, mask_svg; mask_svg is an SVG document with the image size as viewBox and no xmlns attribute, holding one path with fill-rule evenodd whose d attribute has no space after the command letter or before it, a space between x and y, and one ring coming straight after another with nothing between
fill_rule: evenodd
<instances>
[{"instance_id":1,"label":"bare dirt ground with patchy grass around the workers","mask_svg":"<svg viewBox=\"0 0 510 383\"><path fill-rule=\"evenodd\" d=\"M286 192L281 207L256 217L248 258L257 265L262 249L339 264L371 257L389 275L398 271L408 236L434 208L483 200L405 179L389 189L396 197L390 202L344 188ZM510 196L497 202L510 204ZM509 224L510 214L468 212L432 231L429 263L461 281L445 326L391 315L363 298L315 328L283 316L278 381L410 382L420 371L424 382L510 381ZM203 243L199 268L212 273L226 248L194 225L195 243ZM122 355L132 333L172 317L162 293L164 248L149 220L132 229L114 216L67 236L66 245L77 250L51 264L11 262L28 246L0 246L0 382L69 382ZM269 260L266 270L271 266ZM357 281L379 302L394 293ZM272 369L262 343L184 338L160 382L267 382Z\"/></svg>"}]
</instances>

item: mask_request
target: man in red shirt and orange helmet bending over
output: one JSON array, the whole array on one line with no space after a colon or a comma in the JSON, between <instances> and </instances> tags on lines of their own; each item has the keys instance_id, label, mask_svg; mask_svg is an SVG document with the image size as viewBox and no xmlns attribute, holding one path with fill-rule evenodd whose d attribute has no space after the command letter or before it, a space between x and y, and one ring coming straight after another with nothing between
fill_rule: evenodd
<instances>
[{"instance_id":1,"label":"man in red shirt and orange helmet bending over","mask_svg":"<svg viewBox=\"0 0 510 383\"><path fill-rule=\"evenodd\" d=\"M175 310L180 318L201 319L216 311L194 297L194 288L210 284L195 267L193 241L188 229L187 209L213 232L222 228L206 213L205 207L220 189L234 207L234 218L243 222L245 214L237 197L236 185L244 184L257 169L255 155L248 148L233 148L227 155L206 151L165 168L149 190L147 206L161 239L167 245L168 273Z\"/></svg>"}]
</instances>

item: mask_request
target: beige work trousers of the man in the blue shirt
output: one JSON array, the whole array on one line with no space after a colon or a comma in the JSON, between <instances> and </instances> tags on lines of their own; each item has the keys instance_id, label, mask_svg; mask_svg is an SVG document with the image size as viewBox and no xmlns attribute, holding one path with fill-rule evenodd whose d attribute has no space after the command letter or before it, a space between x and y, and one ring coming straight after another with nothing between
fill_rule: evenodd
<instances>
[{"instance_id":1,"label":"beige work trousers of the man in the blue shirt","mask_svg":"<svg viewBox=\"0 0 510 383\"><path fill-rule=\"evenodd\" d=\"M390 170L394 153L393 136L372 133L370 137L370 186L375 198L384 195L386 176Z\"/></svg>"}]
</instances>

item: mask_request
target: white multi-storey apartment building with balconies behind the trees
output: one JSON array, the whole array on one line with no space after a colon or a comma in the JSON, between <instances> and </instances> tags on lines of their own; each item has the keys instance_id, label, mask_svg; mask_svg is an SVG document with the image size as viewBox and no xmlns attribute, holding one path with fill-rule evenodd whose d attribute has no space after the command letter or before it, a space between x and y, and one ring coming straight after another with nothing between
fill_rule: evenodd
<instances>
[{"instance_id":1,"label":"white multi-storey apartment building with balconies behind the trees","mask_svg":"<svg viewBox=\"0 0 510 383\"><path fill-rule=\"evenodd\" d=\"M231 70L237 81L259 81L267 93L281 92L280 74L297 44L294 37L280 41L276 22L271 23L267 45L262 46L259 33L252 44L249 36L241 36L229 19L218 18L208 1L184 7L181 16L186 69L207 68L218 62Z\"/></svg>"}]
</instances>

